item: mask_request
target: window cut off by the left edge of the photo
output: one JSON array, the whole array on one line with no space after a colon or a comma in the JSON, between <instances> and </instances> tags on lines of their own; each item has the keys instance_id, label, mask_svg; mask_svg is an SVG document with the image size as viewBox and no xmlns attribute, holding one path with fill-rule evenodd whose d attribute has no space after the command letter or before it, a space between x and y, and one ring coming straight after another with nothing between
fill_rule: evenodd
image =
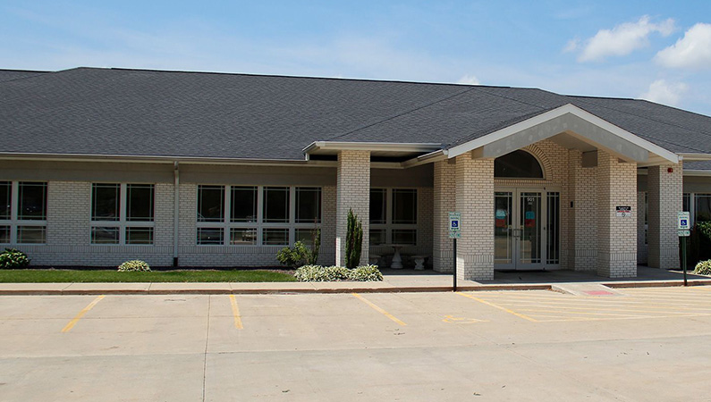
<instances>
[{"instance_id":1,"label":"window cut off by the left edge of the photo","mask_svg":"<svg viewBox=\"0 0 711 402\"><path fill-rule=\"evenodd\" d=\"M47 183L0 181L0 243L47 243Z\"/></svg>"}]
</instances>

